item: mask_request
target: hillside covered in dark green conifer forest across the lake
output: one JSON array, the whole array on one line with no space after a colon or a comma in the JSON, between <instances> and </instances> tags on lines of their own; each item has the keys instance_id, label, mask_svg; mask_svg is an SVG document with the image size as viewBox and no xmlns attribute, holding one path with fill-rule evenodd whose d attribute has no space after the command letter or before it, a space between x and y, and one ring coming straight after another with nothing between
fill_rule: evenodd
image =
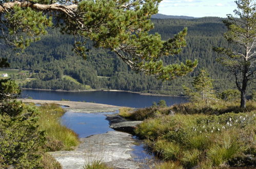
<instances>
[{"instance_id":1,"label":"hillside covered in dark green conifer forest across the lake","mask_svg":"<svg viewBox=\"0 0 256 169\"><path fill-rule=\"evenodd\" d=\"M222 18L204 17L197 19L152 19L154 29L163 39L172 37L184 27L188 27L187 47L177 56L165 58L166 64L198 59L199 65L194 72L172 81L157 80L128 69L127 65L113 52L106 49L93 48L88 42L87 59L76 56L72 51L73 38L62 35L56 30L49 30L41 41L32 44L25 52L17 55L9 47L1 45L1 56L7 57L11 69L30 71L31 80L24 80L20 85L24 88L37 89L117 89L136 92L162 94L183 94L182 85L189 86L192 77L199 69L206 68L214 79L217 91L234 88L234 80L218 62L213 47L227 46L223 37L226 31ZM65 76L64 76L65 75ZM27 78L28 76L12 76ZM69 77L69 78L66 78ZM70 80L75 79L75 80ZM90 87L89 87L90 86ZM249 85L249 90L256 88Z\"/></svg>"}]
</instances>

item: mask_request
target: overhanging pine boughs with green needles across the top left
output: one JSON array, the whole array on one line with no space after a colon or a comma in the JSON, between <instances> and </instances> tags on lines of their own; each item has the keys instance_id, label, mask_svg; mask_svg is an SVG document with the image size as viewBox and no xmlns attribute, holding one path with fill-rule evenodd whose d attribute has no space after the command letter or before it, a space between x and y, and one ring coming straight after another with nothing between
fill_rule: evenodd
<instances>
[{"instance_id":1,"label":"overhanging pine boughs with green needles across the top left","mask_svg":"<svg viewBox=\"0 0 256 169\"><path fill-rule=\"evenodd\" d=\"M164 65L162 56L178 54L186 46L184 28L173 38L162 40L149 34L151 16L157 13L160 0L101 1L0 1L1 37L7 44L25 49L47 27L58 27L75 38L74 51L86 57L86 42L110 49L132 70L170 80L193 71L198 62ZM54 19L52 21L52 19Z\"/></svg>"}]
</instances>

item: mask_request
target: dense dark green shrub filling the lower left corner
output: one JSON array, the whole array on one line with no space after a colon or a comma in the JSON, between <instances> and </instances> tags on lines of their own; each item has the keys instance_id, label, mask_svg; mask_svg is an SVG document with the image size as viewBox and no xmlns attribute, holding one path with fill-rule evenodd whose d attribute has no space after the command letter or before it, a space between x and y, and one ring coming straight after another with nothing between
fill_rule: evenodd
<instances>
[{"instance_id":1,"label":"dense dark green shrub filling the lower left corner","mask_svg":"<svg viewBox=\"0 0 256 169\"><path fill-rule=\"evenodd\" d=\"M38 128L36 107L13 100L2 104L0 116L0 166L37 167L45 133Z\"/></svg>"}]
</instances>

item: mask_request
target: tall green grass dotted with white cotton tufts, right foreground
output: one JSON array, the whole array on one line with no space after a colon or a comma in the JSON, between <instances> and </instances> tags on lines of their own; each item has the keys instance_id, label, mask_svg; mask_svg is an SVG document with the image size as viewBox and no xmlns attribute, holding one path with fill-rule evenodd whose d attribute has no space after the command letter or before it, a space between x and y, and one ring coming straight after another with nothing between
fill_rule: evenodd
<instances>
[{"instance_id":1,"label":"tall green grass dotted with white cotton tufts, right foreground","mask_svg":"<svg viewBox=\"0 0 256 169\"><path fill-rule=\"evenodd\" d=\"M254 166L255 114L162 115L144 120L135 133L155 155L185 168Z\"/></svg>"}]
</instances>

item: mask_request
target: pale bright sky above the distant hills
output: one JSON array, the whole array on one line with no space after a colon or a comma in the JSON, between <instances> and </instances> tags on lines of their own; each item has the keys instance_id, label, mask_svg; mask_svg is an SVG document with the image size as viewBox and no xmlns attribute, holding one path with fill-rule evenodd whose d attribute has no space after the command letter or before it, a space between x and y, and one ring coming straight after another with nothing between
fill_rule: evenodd
<instances>
[{"instance_id":1,"label":"pale bright sky above the distant hills","mask_svg":"<svg viewBox=\"0 0 256 169\"><path fill-rule=\"evenodd\" d=\"M159 13L178 16L218 16L233 14L237 5L232 0L163 0Z\"/></svg>"}]
</instances>

